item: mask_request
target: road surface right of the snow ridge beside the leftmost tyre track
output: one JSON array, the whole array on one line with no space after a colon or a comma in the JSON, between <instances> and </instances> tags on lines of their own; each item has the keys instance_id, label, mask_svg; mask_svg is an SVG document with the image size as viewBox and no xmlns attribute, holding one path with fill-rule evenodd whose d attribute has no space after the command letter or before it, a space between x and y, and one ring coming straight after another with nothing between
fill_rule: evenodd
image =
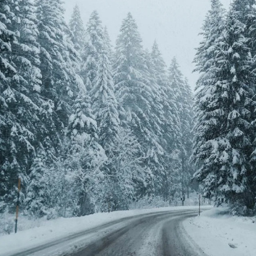
<instances>
[{"instance_id":1,"label":"road surface right of the snow ridge beside the leftmost tyre track","mask_svg":"<svg viewBox=\"0 0 256 256\"><path fill-rule=\"evenodd\" d=\"M168 212L144 216L69 256L199 256L206 255L181 225L198 212Z\"/></svg>"}]
</instances>

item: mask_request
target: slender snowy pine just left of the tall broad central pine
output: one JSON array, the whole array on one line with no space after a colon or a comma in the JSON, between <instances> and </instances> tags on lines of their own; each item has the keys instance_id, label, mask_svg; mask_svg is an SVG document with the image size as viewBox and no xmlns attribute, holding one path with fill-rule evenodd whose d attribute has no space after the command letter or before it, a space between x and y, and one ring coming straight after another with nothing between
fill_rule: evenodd
<instances>
[{"instance_id":1,"label":"slender snowy pine just left of the tall broad central pine","mask_svg":"<svg viewBox=\"0 0 256 256\"><path fill-rule=\"evenodd\" d=\"M92 109L98 124L98 142L104 148L108 161L104 165L105 182L108 186L119 186L118 184L118 169L116 158L119 152L116 148L116 141L119 136L119 113L118 102L114 93L114 84L112 77L112 66L109 60L109 45L105 42L102 48L99 49L97 73L93 81L93 88L90 92L92 98ZM108 188L110 191L110 188ZM113 190L112 199L119 198L122 191L118 193ZM117 193L117 194L116 194ZM111 201L111 198L106 201ZM116 208L122 209L120 204L122 200L116 200Z\"/></svg>"}]
</instances>

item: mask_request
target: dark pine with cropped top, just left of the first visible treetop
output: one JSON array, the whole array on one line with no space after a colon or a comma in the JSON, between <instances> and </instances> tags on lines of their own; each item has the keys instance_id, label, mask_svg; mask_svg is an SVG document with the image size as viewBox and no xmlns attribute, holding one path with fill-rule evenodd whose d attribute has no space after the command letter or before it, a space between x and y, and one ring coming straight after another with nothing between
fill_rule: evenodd
<instances>
[{"instance_id":1,"label":"dark pine with cropped top, just left of the first visible treetop","mask_svg":"<svg viewBox=\"0 0 256 256\"><path fill-rule=\"evenodd\" d=\"M70 65L72 60L66 40L70 31L63 17L62 4L61 0L35 1L41 46L42 95L54 103L55 131L62 130L67 124L72 97L77 92L76 72Z\"/></svg>"}]
</instances>

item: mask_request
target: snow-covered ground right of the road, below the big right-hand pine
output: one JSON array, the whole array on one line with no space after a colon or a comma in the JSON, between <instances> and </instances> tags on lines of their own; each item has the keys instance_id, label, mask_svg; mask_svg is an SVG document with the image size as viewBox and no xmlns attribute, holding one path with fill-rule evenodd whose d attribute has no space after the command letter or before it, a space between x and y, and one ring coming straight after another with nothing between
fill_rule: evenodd
<instances>
[{"instance_id":1,"label":"snow-covered ground right of the road, below the big right-hand pine","mask_svg":"<svg viewBox=\"0 0 256 256\"><path fill-rule=\"evenodd\" d=\"M186 219L184 229L209 256L255 256L256 218L226 214L227 208L213 208L201 216Z\"/></svg>"}]
</instances>

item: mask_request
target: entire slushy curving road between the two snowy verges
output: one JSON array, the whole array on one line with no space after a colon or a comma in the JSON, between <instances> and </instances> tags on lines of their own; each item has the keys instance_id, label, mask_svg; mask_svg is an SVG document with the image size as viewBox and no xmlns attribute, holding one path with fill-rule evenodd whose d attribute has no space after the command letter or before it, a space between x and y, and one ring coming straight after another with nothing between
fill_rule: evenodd
<instances>
[{"instance_id":1,"label":"entire slushy curving road between the two snowy verges","mask_svg":"<svg viewBox=\"0 0 256 256\"><path fill-rule=\"evenodd\" d=\"M197 214L184 210L123 218L12 256L206 255L182 227L184 219Z\"/></svg>"}]
</instances>

